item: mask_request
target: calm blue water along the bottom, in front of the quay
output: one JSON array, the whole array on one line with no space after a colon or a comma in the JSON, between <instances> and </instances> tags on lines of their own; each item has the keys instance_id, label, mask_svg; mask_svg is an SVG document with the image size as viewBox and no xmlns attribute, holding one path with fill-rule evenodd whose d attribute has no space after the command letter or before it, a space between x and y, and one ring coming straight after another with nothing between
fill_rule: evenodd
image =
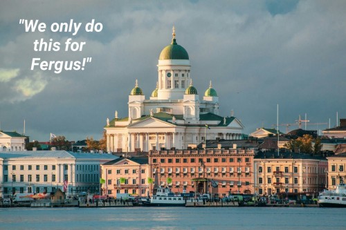
<instances>
[{"instance_id":1,"label":"calm blue water along the bottom, in front of the quay","mask_svg":"<svg viewBox=\"0 0 346 230\"><path fill-rule=\"evenodd\" d=\"M346 209L324 208L12 208L0 229L346 229Z\"/></svg>"}]
</instances>

